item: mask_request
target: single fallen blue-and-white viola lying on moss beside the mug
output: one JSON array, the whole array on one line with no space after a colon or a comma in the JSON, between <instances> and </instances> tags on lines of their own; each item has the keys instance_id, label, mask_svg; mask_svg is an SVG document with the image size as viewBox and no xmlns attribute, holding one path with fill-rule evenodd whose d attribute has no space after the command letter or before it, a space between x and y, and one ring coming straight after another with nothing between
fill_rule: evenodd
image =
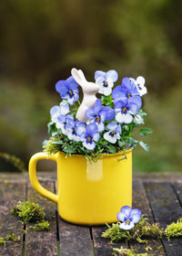
<instances>
[{"instance_id":1,"label":"single fallen blue-and-white viola lying on moss beside the mug","mask_svg":"<svg viewBox=\"0 0 182 256\"><path fill-rule=\"evenodd\" d=\"M141 213L139 208L132 209L128 206L121 208L116 215L116 219L123 222L119 224L119 229L133 229L135 224L140 220Z\"/></svg>"}]
</instances>

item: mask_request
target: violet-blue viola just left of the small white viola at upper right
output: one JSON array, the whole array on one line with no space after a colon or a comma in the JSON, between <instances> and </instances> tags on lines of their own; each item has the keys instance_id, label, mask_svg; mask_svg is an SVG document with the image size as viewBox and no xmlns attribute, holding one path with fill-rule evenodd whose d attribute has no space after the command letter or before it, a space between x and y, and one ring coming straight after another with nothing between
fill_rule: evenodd
<instances>
[{"instance_id":1,"label":"violet-blue viola just left of the small white viola at upper right","mask_svg":"<svg viewBox=\"0 0 182 256\"><path fill-rule=\"evenodd\" d=\"M134 97L139 95L139 92L136 90L136 84L133 80L124 78L122 80L122 84L116 86L113 90L111 96L116 101L118 100L126 100L130 97Z\"/></svg>"}]
</instances>

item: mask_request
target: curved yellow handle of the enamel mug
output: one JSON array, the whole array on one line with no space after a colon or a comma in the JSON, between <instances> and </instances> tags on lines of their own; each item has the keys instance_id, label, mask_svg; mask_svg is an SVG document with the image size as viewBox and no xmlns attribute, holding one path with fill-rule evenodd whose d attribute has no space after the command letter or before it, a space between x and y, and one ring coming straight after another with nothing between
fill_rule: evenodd
<instances>
[{"instance_id":1,"label":"curved yellow handle of the enamel mug","mask_svg":"<svg viewBox=\"0 0 182 256\"><path fill-rule=\"evenodd\" d=\"M56 161L56 155L45 155L44 152L36 153L30 158L29 162L29 177L32 187L34 187L35 191L39 193L41 196L50 199L51 201L58 203L58 196L50 191L48 191L45 187L40 185L37 176L36 176L36 163L39 160L53 160Z\"/></svg>"}]
</instances>

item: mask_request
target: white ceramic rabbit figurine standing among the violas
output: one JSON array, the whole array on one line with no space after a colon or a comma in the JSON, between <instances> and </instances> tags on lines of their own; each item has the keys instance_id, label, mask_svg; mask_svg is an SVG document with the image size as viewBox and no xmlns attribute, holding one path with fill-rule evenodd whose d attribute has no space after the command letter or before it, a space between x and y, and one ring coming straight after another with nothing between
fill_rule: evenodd
<instances>
[{"instance_id":1,"label":"white ceramic rabbit figurine standing among the violas","mask_svg":"<svg viewBox=\"0 0 182 256\"><path fill-rule=\"evenodd\" d=\"M88 123L89 121L86 119L86 110L94 107L96 102L96 92L99 90L99 85L95 82L87 81L81 69L77 70L73 68L71 74L74 80L76 80L76 83L81 86L84 94L83 101L77 110L76 118L79 121Z\"/></svg>"}]
</instances>

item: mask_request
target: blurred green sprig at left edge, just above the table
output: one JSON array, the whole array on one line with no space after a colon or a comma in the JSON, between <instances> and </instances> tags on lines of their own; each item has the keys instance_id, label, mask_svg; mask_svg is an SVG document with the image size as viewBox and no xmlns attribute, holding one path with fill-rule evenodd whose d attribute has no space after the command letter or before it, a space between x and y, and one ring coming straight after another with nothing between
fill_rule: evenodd
<instances>
[{"instance_id":1,"label":"blurred green sprig at left edge, just above the table","mask_svg":"<svg viewBox=\"0 0 182 256\"><path fill-rule=\"evenodd\" d=\"M15 168L17 168L20 172L22 173L27 172L25 169L25 163L17 156L0 152L0 157L3 157L7 162L14 165Z\"/></svg>"}]
</instances>

